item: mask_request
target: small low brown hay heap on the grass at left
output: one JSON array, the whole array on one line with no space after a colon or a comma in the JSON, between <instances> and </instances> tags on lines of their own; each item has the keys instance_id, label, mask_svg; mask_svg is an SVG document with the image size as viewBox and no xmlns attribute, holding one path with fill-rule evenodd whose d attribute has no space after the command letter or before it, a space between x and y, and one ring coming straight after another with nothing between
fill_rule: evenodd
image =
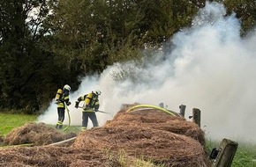
<instances>
[{"instance_id":1,"label":"small low brown hay heap on the grass at left","mask_svg":"<svg viewBox=\"0 0 256 167\"><path fill-rule=\"evenodd\" d=\"M18 145L33 143L34 145L47 145L53 142L60 142L76 136L76 134L64 134L44 123L26 123L22 127L14 128L4 138L5 145Z\"/></svg>"}]
</instances>

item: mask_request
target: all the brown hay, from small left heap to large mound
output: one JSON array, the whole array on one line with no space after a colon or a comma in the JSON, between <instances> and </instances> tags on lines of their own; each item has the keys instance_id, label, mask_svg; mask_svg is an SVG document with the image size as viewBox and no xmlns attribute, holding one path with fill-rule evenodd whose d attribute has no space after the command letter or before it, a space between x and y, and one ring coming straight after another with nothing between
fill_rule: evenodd
<instances>
[{"instance_id":1,"label":"all the brown hay, from small left heap to large mound","mask_svg":"<svg viewBox=\"0 0 256 167\"><path fill-rule=\"evenodd\" d=\"M172 166L207 167L204 132L196 124L157 109L127 110L125 105L102 127L63 134L43 123L15 128L0 149L0 166ZM49 144L77 136L65 147Z\"/></svg>"}]
</instances>

